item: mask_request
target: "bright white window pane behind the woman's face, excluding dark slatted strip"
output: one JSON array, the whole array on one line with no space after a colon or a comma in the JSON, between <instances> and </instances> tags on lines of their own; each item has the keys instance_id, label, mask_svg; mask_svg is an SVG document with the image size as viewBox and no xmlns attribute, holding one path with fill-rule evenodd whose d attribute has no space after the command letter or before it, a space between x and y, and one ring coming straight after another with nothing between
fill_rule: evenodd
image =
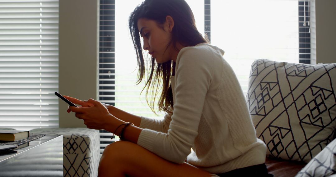
<instances>
[{"instance_id":1,"label":"bright white window pane behind the woman's face, excluding dark slatted strip","mask_svg":"<svg viewBox=\"0 0 336 177\"><path fill-rule=\"evenodd\" d=\"M145 93L140 92L144 82L137 81L137 62L132 40L128 29L128 17L142 0L116 1L115 28L115 64L116 64L116 106L125 111L145 117L163 117L163 113L155 116L145 101ZM186 0L195 14L199 31L204 34L204 0Z\"/></svg>"}]
</instances>

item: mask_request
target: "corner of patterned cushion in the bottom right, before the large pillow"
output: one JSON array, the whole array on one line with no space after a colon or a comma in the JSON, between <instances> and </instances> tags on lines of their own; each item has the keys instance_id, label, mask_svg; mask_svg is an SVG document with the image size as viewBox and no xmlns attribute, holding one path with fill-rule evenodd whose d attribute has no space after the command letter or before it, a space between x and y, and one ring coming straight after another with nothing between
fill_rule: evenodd
<instances>
[{"instance_id":1,"label":"corner of patterned cushion in the bottom right, before the large pillow","mask_svg":"<svg viewBox=\"0 0 336 177\"><path fill-rule=\"evenodd\" d=\"M322 177L336 174L336 139L329 143L295 177Z\"/></svg>"}]
</instances>

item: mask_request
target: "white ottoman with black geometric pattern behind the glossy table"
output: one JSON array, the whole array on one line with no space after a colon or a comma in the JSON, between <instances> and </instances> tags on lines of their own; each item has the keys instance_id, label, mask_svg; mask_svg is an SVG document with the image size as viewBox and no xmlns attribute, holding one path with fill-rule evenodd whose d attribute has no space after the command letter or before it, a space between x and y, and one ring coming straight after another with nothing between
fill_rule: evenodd
<instances>
[{"instance_id":1,"label":"white ottoman with black geometric pattern behind the glossy table","mask_svg":"<svg viewBox=\"0 0 336 177\"><path fill-rule=\"evenodd\" d=\"M88 128L42 128L30 132L63 135L63 176L98 175L99 130Z\"/></svg>"}]
</instances>

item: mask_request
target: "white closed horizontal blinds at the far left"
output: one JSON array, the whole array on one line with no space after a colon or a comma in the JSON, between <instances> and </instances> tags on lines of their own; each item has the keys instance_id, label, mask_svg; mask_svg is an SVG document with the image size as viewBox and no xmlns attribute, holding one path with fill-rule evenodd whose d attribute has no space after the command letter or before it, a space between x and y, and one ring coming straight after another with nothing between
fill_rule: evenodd
<instances>
[{"instance_id":1,"label":"white closed horizontal blinds at the far left","mask_svg":"<svg viewBox=\"0 0 336 177\"><path fill-rule=\"evenodd\" d=\"M0 0L0 127L58 127L58 0Z\"/></svg>"}]
</instances>

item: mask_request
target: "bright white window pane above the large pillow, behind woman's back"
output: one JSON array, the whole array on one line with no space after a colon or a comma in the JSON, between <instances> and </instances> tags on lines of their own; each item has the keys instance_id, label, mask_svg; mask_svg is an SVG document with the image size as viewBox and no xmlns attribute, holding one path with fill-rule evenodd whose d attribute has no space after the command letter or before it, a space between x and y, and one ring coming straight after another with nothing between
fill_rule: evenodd
<instances>
[{"instance_id":1,"label":"bright white window pane above the large pillow, behind woman's back","mask_svg":"<svg viewBox=\"0 0 336 177\"><path fill-rule=\"evenodd\" d=\"M211 44L225 51L244 94L256 59L299 62L298 24L294 0L211 1Z\"/></svg>"}]
</instances>

